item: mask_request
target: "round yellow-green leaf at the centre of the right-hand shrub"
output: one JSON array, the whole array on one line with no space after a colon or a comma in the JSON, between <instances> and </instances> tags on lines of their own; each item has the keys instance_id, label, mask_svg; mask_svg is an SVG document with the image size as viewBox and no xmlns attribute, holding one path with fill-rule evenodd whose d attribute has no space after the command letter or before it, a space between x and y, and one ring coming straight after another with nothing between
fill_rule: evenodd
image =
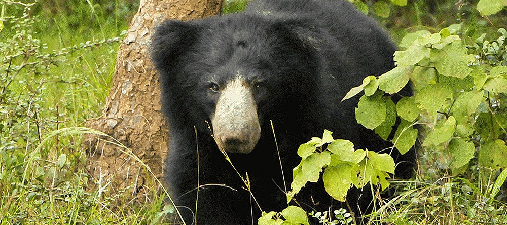
<instances>
[{"instance_id":1,"label":"round yellow-green leaf at the centre of the right-hand shrub","mask_svg":"<svg viewBox=\"0 0 507 225\"><path fill-rule=\"evenodd\" d=\"M421 108L430 113L436 113L444 106L447 99L452 99L452 91L445 85L429 84L426 85L415 96L415 101Z\"/></svg>"}]
</instances>

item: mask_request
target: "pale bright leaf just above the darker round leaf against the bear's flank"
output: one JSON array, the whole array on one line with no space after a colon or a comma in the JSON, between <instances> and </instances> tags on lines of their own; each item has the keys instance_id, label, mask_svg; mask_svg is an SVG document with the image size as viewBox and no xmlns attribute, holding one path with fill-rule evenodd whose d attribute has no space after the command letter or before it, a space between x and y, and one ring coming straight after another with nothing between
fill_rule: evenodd
<instances>
[{"instance_id":1,"label":"pale bright leaf just above the darker round leaf against the bear's flank","mask_svg":"<svg viewBox=\"0 0 507 225\"><path fill-rule=\"evenodd\" d=\"M402 90L409 82L413 66L397 66L379 77L379 89L393 94Z\"/></svg>"}]
</instances>

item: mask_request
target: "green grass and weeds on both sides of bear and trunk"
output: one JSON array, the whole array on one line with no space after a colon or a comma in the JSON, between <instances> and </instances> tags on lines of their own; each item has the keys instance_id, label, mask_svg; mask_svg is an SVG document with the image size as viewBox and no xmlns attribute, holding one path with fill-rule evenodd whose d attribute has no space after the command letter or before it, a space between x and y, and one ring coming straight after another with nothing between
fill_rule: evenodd
<instances>
[{"instance_id":1,"label":"green grass and weeds on both sides of bear and trunk","mask_svg":"<svg viewBox=\"0 0 507 225\"><path fill-rule=\"evenodd\" d=\"M101 114L122 33L136 4L0 0L4 25L0 31L0 224L170 223L164 218L174 210L160 186L136 196L131 194L133 186L112 194L107 183L94 179L86 169L87 153L81 147L83 134L94 132L81 127ZM398 40L417 27L449 25L453 18L445 12L453 4L440 4L437 15L425 13L428 5L423 3L398 7L391 9L395 19L377 19ZM230 7L229 11L236 11L244 4ZM404 16L408 11L416 16ZM488 29L488 23L477 16L461 19L475 23L475 29ZM494 26L505 24L505 17L492 21ZM373 221L507 223L506 206L488 191L496 174L476 168L481 170L479 177L448 177L445 170L434 168L436 164L438 160L421 162L415 180L393 183L399 186L399 197L373 213Z\"/></svg>"}]
</instances>

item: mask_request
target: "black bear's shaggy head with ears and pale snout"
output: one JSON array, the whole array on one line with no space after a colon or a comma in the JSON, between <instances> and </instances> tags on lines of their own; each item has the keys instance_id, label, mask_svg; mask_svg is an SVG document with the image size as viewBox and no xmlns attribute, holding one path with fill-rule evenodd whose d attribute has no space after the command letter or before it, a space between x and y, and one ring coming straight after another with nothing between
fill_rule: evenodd
<instances>
[{"instance_id":1,"label":"black bear's shaggy head with ears and pale snout","mask_svg":"<svg viewBox=\"0 0 507 225\"><path fill-rule=\"evenodd\" d=\"M151 52L169 125L210 125L221 150L244 154L270 134L270 120L296 126L319 68L319 39L302 23L256 15L163 22Z\"/></svg>"}]
</instances>

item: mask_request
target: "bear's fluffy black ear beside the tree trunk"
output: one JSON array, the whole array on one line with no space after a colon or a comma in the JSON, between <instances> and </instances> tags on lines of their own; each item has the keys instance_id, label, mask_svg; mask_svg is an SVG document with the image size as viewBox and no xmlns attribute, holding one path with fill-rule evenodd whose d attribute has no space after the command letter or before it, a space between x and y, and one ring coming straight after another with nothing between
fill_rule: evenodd
<instances>
[{"instance_id":1,"label":"bear's fluffy black ear beside the tree trunk","mask_svg":"<svg viewBox=\"0 0 507 225\"><path fill-rule=\"evenodd\" d=\"M150 50L157 70L166 70L178 56L187 52L199 36L199 27L193 21L166 20L156 28Z\"/></svg>"}]
</instances>

